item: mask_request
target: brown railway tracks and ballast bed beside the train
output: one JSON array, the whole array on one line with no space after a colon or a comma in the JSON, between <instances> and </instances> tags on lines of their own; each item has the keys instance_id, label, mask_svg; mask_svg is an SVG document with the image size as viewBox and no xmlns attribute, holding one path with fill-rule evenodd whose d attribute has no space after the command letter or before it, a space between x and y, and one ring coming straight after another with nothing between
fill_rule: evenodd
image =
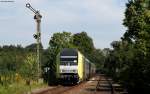
<instances>
[{"instance_id":1,"label":"brown railway tracks and ballast bed beside the train","mask_svg":"<svg viewBox=\"0 0 150 94\"><path fill-rule=\"evenodd\" d=\"M75 86L56 86L32 94L128 94L118 91L118 89L120 89L120 86L114 84L112 79L106 75L96 75L89 79L89 81L82 82Z\"/></svg>"}]
</instances>

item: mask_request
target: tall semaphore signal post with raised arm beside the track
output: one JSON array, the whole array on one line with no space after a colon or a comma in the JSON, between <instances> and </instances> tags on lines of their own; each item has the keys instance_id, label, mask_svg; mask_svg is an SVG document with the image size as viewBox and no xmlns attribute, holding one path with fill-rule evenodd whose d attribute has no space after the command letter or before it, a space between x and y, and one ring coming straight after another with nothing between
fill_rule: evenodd
<instances>
[{"instance_id":1,"label":"tall semaphore signal post with raised arm beside the track","mask_svg":"<svg viewBox=\"0 0 150 94\"><path fill-rule=\"evenodd\" d=\"M34 19L36 21L36 34L33 35L33 37L36 39L37 41L37 64L38 64L38 79L41 76L41 56L40 56L40 45L41 45L41 18L42 15L40 14L39 11L35 10L34 8L32 8L32 6L27 3L26 7L29 8L35 15L34 15Z\"/></svg>"}]
</instances>

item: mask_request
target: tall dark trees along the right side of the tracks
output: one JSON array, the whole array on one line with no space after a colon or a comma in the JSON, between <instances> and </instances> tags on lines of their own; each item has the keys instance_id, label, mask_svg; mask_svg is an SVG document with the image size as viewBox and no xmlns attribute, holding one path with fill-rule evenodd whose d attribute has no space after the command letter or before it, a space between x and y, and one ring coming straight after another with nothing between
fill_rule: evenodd
<instances>
[{"instance_id":1,"label":"tall dark trees along the right side of the tracks","mask_svg":"<svg viewBox=\"0 0 150 94\"><path fill-rule=\"evenodd\" d=\"M130 94L150 93L150 5L149 0L129 0L121 41L113 41L105 67Z\"/></svg>"}]
</instances>

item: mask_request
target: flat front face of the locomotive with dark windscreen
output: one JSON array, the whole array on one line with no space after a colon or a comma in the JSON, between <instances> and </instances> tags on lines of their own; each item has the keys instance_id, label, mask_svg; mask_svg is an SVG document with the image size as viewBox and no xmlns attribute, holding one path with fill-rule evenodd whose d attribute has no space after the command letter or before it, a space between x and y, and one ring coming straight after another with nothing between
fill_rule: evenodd
<instances>
[{"instance_id":1,"label":"flat front face of the locomotive with dark windscreen","mask_svg":"<svg viewBox=\"0 0 150 94\"><path fill-rule=\"evenodd\" d=\"M63 49L60 52L60 82L78 82L78 51L76 49Z\"/></svg>"}]
</instances>

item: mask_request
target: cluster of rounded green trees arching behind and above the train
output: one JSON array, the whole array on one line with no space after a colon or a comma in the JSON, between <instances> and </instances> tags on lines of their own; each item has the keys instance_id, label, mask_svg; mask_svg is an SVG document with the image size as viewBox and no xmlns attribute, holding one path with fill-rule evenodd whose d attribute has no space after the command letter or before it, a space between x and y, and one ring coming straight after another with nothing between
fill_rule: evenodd
<instances>
[{"instance_id":1,"label":"cluster of rounded green trees arching behind and above the train","mask_svg":"<svg viewBox=\"0 0 150 94\"><path fill-rule=\"evenodd\" d=\"M77 48L90 61L101 66L103 63L103 53L100 49L95 49L93 40L86 32L71 34L70 32L54 33L49 41L49 48L45 52L48 58L44 63L44 67L49 67L48 73L45 73L45 78L53 84L56 81L56 57L63 48ZM49 74L49 75L47 75ZM47 75L47 76L46 76Z\"/></svg>"}]
</instances>

